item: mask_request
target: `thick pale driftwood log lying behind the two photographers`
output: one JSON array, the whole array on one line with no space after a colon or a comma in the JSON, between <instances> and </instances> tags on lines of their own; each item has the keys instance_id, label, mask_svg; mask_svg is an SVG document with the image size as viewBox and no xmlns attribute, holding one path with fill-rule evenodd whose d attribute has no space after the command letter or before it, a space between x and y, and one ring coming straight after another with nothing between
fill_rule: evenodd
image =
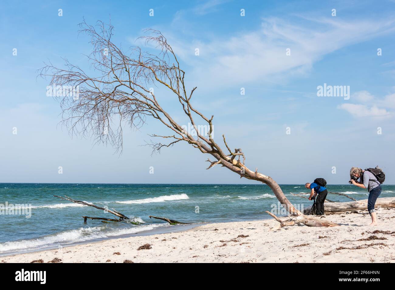
<instances>
[{"instance_id":1,"label":"thick pale driftwood log lying behind the two photographers","mask_svg":"<svg viewBox=\"0 0 395 290\"><path fill-rule=\"evenodd\" d=\"M348 212L352 210L367 210L367 199L360 201L348 201L346 203L328 203L325 204L325 213ZM395 208L395 197L383 197L376 200L376 208ZM311 206L304 208L306 214L310 211Z\"/></svg>"}]
</instances>

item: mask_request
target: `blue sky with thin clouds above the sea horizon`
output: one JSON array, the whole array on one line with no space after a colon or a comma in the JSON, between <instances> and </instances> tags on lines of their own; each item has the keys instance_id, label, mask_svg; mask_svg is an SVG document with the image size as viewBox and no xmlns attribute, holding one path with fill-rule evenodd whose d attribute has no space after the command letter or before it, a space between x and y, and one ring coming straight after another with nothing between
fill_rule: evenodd
<instances>
[{"instance_id":1,"label":"blue sky with thin clouds above the sea horizon","mask_svg":"<svg viewBox=\"0 0 395 290\"><path fill-rule=\"evenodd\" d=\"M386 183L395 183L394 1L164 3L0 4L0 182L251 183L225 168L205 170L207 156L188 144L151 157L140 146L147 134L168 133L154 120L139 131L125 130L122 155L90 139L71 139L58 125L59 105L46 97L49 80L36 78L36 70L48 59L61 67L62 57L88 68L83 54L90 45L77 24L111 17L114 42L124 47L141 45L135 39L145 28L167 37L188 86L198 86L193 104L214 115L217 142L225 134L231 148L243 149L248 167L282 184L315 177L344 184L350 167L380 165ZM318 97L324 83L350 86L350 99ZM159 92L166 110L184 124L178 101Z\"/></svg>"}]
</instances>

